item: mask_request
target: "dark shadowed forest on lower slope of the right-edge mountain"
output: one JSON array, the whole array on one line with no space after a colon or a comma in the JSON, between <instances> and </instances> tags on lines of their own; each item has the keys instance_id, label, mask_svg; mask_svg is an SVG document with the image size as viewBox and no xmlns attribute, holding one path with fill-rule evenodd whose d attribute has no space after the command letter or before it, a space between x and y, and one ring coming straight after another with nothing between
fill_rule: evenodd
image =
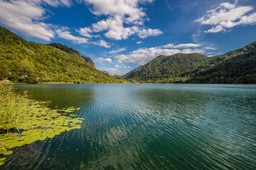
<instances>
[{"instance_id":1,"label":"dark shadowed forest on lower slope of the right-edge mountain","mask_svg":"<svg viewBox=\"0 0 256 170\"><path fill-rule=\"evenodd\" d=\"M220 62L197 73L188 83L256 84L256 50Z\"/></svg>"}]
</instances>

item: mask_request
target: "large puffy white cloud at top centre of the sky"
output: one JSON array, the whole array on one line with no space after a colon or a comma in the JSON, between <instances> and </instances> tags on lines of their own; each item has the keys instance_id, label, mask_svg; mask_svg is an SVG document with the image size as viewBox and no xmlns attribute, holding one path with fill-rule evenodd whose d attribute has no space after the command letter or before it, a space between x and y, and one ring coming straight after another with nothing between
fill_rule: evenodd
<instances>
[{"instance_id":1,"label":"large puffy white cloud at top centre of the sky","mask_svg":"<svg viewBox=\"0 0 256 170\"><path fill-rule=\"evenodd\" d=\"M157 36L162 33L159 29L144 28L144 21L148 20L139 3L148 3L152 0L84 0L91 5L90 11L97 16L107 16L105 20L93 23L90 27L80 28L79 33L85 37L92 37L94 32L105 31L108 39L123 40L131 35L138 35L142 39L147 36ZM128 24L124 27L123 24Z\"/></svg>"}]
</instances>

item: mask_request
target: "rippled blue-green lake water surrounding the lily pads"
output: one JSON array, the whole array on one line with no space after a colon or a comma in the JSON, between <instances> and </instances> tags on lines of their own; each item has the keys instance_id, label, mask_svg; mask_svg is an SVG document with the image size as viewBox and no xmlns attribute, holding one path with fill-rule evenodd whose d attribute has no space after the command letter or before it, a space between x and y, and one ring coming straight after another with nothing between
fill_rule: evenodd
<instances>
[{"instance_id":1,"label":"rippled blue-green lake water surrounding the lily pads","mask_svg":"<svg viewBox=\"0 0 256 170\"><path fill-rule=\"evenodd\" d=\"M256 169L256 86L28 84L81 129L13 148L3 169Z\"/></svg>"}]
</instances>

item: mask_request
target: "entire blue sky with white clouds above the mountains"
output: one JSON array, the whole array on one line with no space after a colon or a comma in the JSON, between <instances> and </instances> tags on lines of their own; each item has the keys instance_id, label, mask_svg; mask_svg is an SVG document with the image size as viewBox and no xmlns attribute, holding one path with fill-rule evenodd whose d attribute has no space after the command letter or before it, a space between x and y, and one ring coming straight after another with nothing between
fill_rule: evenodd
<instances>
[{"instance_id":1,"label":"entire blue sky with white clouds above the mountains","mask_svg":"<svg viewBox=\"0 0 256 170\"><path fill-rule=\"evenodd\" d=\"M255 0L0 0L0 25L123 75L159 55L212 57L256 41Z\"/></svg>"}]
</instances>

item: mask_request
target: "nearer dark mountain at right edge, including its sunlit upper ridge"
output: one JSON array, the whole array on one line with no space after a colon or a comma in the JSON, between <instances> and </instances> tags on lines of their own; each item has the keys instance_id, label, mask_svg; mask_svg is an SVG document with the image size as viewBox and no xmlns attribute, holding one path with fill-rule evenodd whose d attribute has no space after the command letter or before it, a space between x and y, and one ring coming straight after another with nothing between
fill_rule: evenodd
<instances>
[{"instance_id":1,"label":"nearer dark mountain at right edge, including its sunlit upper ridge","mask_svg":"<svg viewBox=\"0 0 256 170\"><path fill-rule=\"evenodd\" d=\"M195 70L188 83L256 84L256 41L241 49L211 58L219 62Z\"/></svg>"}]
</instances>

